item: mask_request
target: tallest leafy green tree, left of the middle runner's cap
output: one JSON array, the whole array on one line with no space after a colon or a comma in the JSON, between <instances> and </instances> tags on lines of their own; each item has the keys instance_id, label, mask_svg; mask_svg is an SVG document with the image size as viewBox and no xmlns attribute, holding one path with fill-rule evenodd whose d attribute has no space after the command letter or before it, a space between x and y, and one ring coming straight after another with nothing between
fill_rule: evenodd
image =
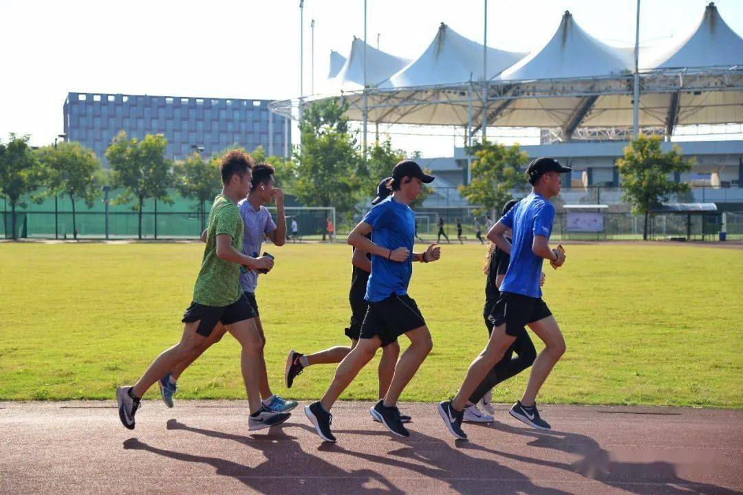
<instances>
[{"instance_id":1,"label":"tallest leafy green tree, left of the middle runner's cap","mask_svg":"<svg viewBox=\"0 0 743 495\"><path fill-rule=\"evenodd\" d=\"M348 104L328 99L305 108L295 151L293 193L308 206L334 206L351 212L360 199L363 177L357 174L360 154L344 112ZM369 194L364 191L364 194Z\"/></svg>"}]
</instances>

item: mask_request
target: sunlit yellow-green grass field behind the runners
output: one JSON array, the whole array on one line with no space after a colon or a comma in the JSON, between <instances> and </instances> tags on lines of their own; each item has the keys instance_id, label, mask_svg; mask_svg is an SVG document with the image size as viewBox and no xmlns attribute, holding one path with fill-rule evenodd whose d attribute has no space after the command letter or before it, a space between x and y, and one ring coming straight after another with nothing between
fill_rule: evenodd
<instances>
[{"instance_id":1,"label":"sunlit yellow-green grass field behind the runners","mask_svg":"<svg viewBox=\"0 0 743 495\"><path fill-rule=\"evenodd\" d=\"M112 399L117 384L134 381L180 338L202 249L0 243L0 399ZM262 276L258 301L270 381L282 396L317 398L334 367L305 370L289 393L285 356L346 344L351 249L269 251L276 268ZM415 265L410 293L434 350L403 400L450 396L484 346L483 254L479 244L445 244L439 263ZM564 269L546 271L545 300L568 352L541 402L743 407L742 249L572 245ZM495 399L516 399L526 378L505 382ZM236 341L227 336L207 351L180 386L183 399L243 399ZM343 398L376 391L370 365Z\"/></svg>"}]
</instances>

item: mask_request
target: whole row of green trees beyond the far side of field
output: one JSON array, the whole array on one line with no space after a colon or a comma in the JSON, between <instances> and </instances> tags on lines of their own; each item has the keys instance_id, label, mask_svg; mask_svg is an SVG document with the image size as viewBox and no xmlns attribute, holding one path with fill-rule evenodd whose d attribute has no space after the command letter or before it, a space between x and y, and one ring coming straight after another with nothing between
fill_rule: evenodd
<instances>
[{"instance_id":1,"label":"whole row of green trees beyond the far side of field","mask_svg":"<svg viewBox=\"0 0 743 495\"><path fill-rule=\"evenodd\" d=\"M299 122L300 145L292 157L267 156L260 146L250 154L256 162L267 162L276 168L276 182L305 206L333 206L338 214L350 216L372 196L380 178L405 158L405 153L392 147L389 138L375 142L366 153L349 125L345 111L348 104L338 99L309 105ZM46 197L69 197L72 203L73 235L77 239L75 202L93 206L103 194L103 186L122 189L114 204L132 204L138 212L138 236L142 237L142 208L146 200L172 204L168 189L194 200L204 228L205 207L221 189L219 160L221 153L203 157L198 151L185 160L173 162L166 157L167 141L162 134L148 134L139 140L123 131L106 149L109 168L79 142L61 142L32 148L28 136L10 134L0 141L0 196L10 204L11 232L16 236L16 209L24 208L22 198L34 201ZM240 148L234 145L231 148ZM243 148L244 149L244 148ZM244 150L247 151L247 150ZM523 174L527 154L519 145L503 145L484 140L468 149L472 159L467 185L460 192L483 212L496 211L513 191L525 185ZM630 142L624 156L617 161L623 197L635 214L645 216L644 237L653 209L672 194L689 190L676 183L672 175L689 171L692 160L685 160L678 147L663 153L656 137L640 136ZM434 186L435 187L435 186ZM43 192L37 193L39 189ZM413 207L431 194L427 187ZM34 194L36 193L36 194Z\"/></svg>"}]
</instances>

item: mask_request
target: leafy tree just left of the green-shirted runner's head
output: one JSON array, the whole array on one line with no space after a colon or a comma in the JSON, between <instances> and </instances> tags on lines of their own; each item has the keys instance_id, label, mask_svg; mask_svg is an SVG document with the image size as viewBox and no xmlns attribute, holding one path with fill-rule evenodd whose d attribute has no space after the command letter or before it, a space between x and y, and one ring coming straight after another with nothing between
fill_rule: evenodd
<instances>
[{"instance_id":1,"label":"leafy tree just left of the green-shirted runner's head","mask_svg":"<svg viewBox=\"0 0 743 495\"><path fill-rule=\"evenodd\" d=\"M196 211L201 219L201 231L204 232L206 214L204 203L214 199L221 187L221 173L218 160L204 160L194 152L185 161L173 165L175 189L186 199L196 200Z\"/></svg>"}]
</instances>

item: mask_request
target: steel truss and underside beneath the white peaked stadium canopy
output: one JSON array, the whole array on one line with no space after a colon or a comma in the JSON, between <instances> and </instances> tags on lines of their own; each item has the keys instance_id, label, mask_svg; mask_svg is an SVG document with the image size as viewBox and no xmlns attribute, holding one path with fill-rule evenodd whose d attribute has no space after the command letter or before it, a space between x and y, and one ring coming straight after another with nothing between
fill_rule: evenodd
<instances>
[{"instance_id":1,"label":"steel truss and underside beneath the white peaked stadium canopy","mask_svg":"<svg viewBox=\"0 0 743 495\"><path fill-rule=\"evenodd\" d=\"M608 111L598 103L608 96L629 97L631 108L632 74L622 73L611 76L594 76L576 79L538 79L518 82L492 80L488 85L487 101L488 122L492 126L517 127L560 127L563 137L569 139L571 132L581 127L607 128L606 123L592 122L587 119ZM470 92L472 93L470 96ZM730 68L695 68L655 69L640 73L640 110L648 116L648 126L664 125L666 132L672 132L675 125L708 123L695 122L694 115L706 105L684 104L682 95L705 95L735 92L743 95L743 67ZM467 125L468 105L472 105L473 134L479 128L479 117L482 114L482 85L477 82L462 82L456 85L428 86L420 88L366 90L369 108L369 120L377 123L402 123L413 125ZM648 95L666 95L663 107L646 105L643 98ZM333 96L306 99L305 104L318 99ZM339 97L339 96L336 96ZM362 119L363 91L344 91L340 98L349 103L348 117L352 120ZM535 112L530 100L538 100ZM741 96L717 104L718 111L729 110L733 118L721 112L718 123L739 122ZM521 102L521 103L519 103ZM554 102L551 103L551 102ZM270 104L272 111L296 119L298 100L276 101ZM522 105L525 105L522 108ZM531 106L529 106L531 105ZM620 104L617 104L620 105ZM624 105L624 102L621 103ZM614 111L625 111L626 108L611 108ZM529 114L531 111L531 114ZM526 115L526 122L509 124L507 119L513 115ZM737 112L737 113L736 113ZM535 115L533 119L529 117ZM606 119L605 119L606 120ZM617 127L626 125L617 122Z\"/></svg>"}]
</instances>

